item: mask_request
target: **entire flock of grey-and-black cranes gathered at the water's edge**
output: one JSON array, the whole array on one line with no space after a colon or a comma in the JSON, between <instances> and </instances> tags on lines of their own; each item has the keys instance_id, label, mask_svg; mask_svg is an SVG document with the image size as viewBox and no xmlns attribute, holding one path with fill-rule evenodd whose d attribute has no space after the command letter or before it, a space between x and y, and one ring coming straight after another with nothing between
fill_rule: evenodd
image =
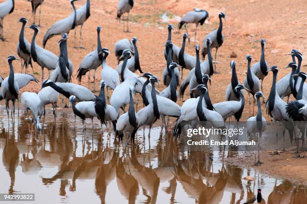
<instances>
[{"instance_id":1,"label":"entire flock of grey-and-black cranes gathered at the water's edge","mask_svg":"<svg viewBox=\"0 0 307 204\"><path fill-rule=\"evenodd\" d=\"M200 121L206 121L216 128L226 128L225 121L230 119L230 117L234 116L236 121L240 120L245 105L244 90L246 90L249 96L250 110L250 94L253 96L253 113L250 113L250 116L254 114L255 101L257 101L258 107L257 116L251 116L248 119L248 132L253 135L260 132L261 135L261 132L266 126L266 121L261 114L262 110L260 104L260 97L265 98L262 91L262 83L265 76L271 71L273 73L273 83L268 99L266 100L267 113L274 121L277 141L277 121L279 121L289 132L291 141L293 136L295 136L297 157L300 157L298 153L299 136L295 134L294 121L306 120L307 107L305 104L307 86L305 85L305 79L307 75L300 71L303 56L298 50L293 49L290 53L292 62L290 62L287 67L292 68L291 72L277 82L276 76L278 68L274 65L269 67L265 60L265 40L261 39L260 61L252 65L252 56L250 54L246 55L247 76L244 83L241 84L238 81L236 62L231 61L230 67L232 70L232 77L226 89L225 101L212 104L208 81L211 83L211 77L216 74L216 54L218 48L222 46L224 41L222 18L225 18L225 13L220 12L218 14L219 26L204 37L202 47L200 47L199 44L195 45L196 56L185 53L186 39L190 38L189 34L183 34L183 43L182 46L179 47L172 42L172 30L174 26L172 24L168 25L169 34L164 49L166 67L161 78L165 85L165 89L161 92L156 88L156 83L160 84L159 78L149 72L143 73L140 67L140 55L136 46L137 38L133 37L131 41L129 39L121 39L115 43L114 53L117 57L118 65L117 68L112 68L106 62L106 58L110 52L109 49L101 46L100 32L102 28L98 26L97 47L83 58L77 71L77 79L80 83L82 76L85 75L86 72L88 72L89 79L90 70L94 69L94 72L96 72L98 67L102 67L100 92L99 95L96 96L89 89L89 83L87 88L80 84L75 84L71 80L73 64L68 57L68 33L72 29L76 30L77 25L81 25L80 39L82 40L82 25L90 16L90 0L86 0L86 3L79 9L76 9L74 1L76 0L70 0L73 12L68 17L55 22L47 30L43 39L43 47L36 43L39 26L36 24L30 25L30 28L34 30L30 43L24 36L24 28L27 24L27 19L25 17L20 18L19 21L22 22L22 28L17 44L17 53L22 61L21 70L25 67L26 73L15 73L13 61L18 58L14 55L10 55L8 57L10 74L2 81L2 92L0 95L1 99L6 100L8 117L9 101L11 100L13 102L13 114L15 112L16 100L19 104L20 89L29 81L38 82L36 77L27 73L29 65L33 68L34 61L42 67L42 89L38 94L34 92L24 92L21 95L21 102L27 111L31 110L33 112L34 122L38 130L42 128L40 118L43 112L45 114L46 105L52 104L54 109L53 114L56 117L59 94L69 99L75 116L80 117L83 123L86 118L90 118L93 121L94 117L100 120L101 126L110 122L113 124L114 131L119 139L122 140L124 133L128 134L127 143L130 138L134 141L135 133L141 126L144 127L145 125L149 125L149 136L153 123L160 119L160 116L163 121L163 126L166 127L166 129L169 126L170 117L177 118L173 129L174 137L181 135L183 126L187 122L193 127L196 127ZM33 5L34 2L35 1L32 1ZM40 4L42 4L42 2L43 1L40 1ZM9 6L13 7L8 9ZM37 6L38 5L35 4L33 7L36 8ZM6 9L3 9L3 7ZM125 12L127 12L129 16L129 10L132 7L133 0L120 0L117 17L120 18ZM14 0L8 0L0 4L0 17L2 23L4 16L13 12L13 10ZM195 8L194 11L187 13L182 18L178 28L181 29L183 25L185 25L186 28L187 23L196 23L197 28L198 24L203 24L207 17L208 12L206 10ZM3 39L3 25L1 29L1 36ZM128 24L126 31L128 31ZM195 31L195 39L196 34L197 31ZM61 39L59 40L59 56L56 56L45 48L48 39L54 35L61 35ZM82 42L80 42L80 46L82 47ZM213 61L211 50L214 47L216 48L216 52ZM203 60L207 55L207 59L201 61L200 54L202 54ZM297 64L295 58L297 58ZM215 65L213 65L213 63ZM49 71L48 79L44 77L44 68L47 68ZM188 69L189 73L186 78L181 81L183 69ZM135 73L137 70L142 75ZM178 91L179 85L180 88ZM182 106L180 106L176 102L179 98L183 98L188 86L191 98L187 99ZM104 88L106 88L107 98L105 97ZM96 87L94 85L94 90L95 89ZM113 90L110 97L109 89ZM138 111L134 107L136 93L142 96L142 103L144 105L144 107ZM295 100L288 103L283 101L283 97L287 96L289 98L291 94L294 96ZM136 100L136 105L138 102L139 101ZM125 106L128 104L128 110L125 111ZM122 114L120 114L121 109L123 110ZM166 116L168 117L167 121L165 118ZM261 125L259 125L259 123ZM83 127L85 128L85 126ZM301 132L300 138L302 139L302 148L304 149L304 135L306 130L304 126L298 126L298 129ZM283 137L284 134L285 130L283 131ZM260 147L260 144L258 147ZM276 146L275 153L279 153L278 146ZM255 164L258 165L260 163L258 155L258 161L255 160Z\"/></svg>"}]
</instances>

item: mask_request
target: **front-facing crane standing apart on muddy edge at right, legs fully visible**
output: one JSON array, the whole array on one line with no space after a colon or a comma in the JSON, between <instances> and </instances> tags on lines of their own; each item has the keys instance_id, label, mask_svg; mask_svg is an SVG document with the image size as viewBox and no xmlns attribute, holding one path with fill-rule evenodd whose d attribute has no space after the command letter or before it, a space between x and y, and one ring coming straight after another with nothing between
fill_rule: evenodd
<instances>
[{"instance_id":1,"label":"front-facing crane standing apart on muddy edge at right, legs fully visible","mask_svg":"<svg viewBox=\"0 0 307 204\"><path fill-rule=\"evenodd\" d=\"M258 136L258 161L256 161L256 154L255 154L254 165L261 165L262 162L260 161L260 137L262 135L262 132L266 128L266 120L262 116L260 97L264 97L264 95L261 91L258 91L255 93L254 97L257 100L258 112L256 116L252 116L247 119L246 128L248 134L252 134L254 139L255 135Z\"/></svg>"}]
</instances>

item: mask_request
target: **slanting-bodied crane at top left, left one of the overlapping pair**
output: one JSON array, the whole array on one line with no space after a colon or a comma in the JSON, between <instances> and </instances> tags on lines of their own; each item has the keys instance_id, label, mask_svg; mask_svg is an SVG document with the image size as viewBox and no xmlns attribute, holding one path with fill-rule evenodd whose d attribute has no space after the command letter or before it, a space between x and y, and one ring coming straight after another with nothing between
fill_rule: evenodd
<instances>
[{"instance_id":1,"label":"slanting-bodied crane at top left, left one of the overlapping pair","mask_svg":"<svg viewBox=\"0 0 307 204\"><path fill-rule=\"evenodd\" d=\"M70 0L70 3L73 7L73 13L71 13L68 17L61 19L47 30L43 38L43 47L45 48L48 39L53 37L54 35L60 34L61 36L64 33L69 33L70 30L74 29L77 25L77 11L74 2L77 0Z\"/></svg>"}]
</instances>

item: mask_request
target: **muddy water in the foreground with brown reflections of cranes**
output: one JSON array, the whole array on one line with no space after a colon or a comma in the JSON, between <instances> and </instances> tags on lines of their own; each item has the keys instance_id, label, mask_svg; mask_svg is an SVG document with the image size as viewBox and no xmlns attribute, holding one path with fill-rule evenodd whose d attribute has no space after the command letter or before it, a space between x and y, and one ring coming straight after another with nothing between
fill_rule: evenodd
<instances>
[{"instance_id":1,"label":"muddy water in the foreground with brown reflections of cranes","mask_svg":"<svg viewBox=\"0 0 307 204\"><path fill-rule=\"evenodd\" d=\"M243 203L257 188L263 203L307 203L305 186L223 163L242 152L215 150L210 160L161 127L125 146L97 119L83 133L71 111L55 120L48 110L41 133L23 111L12 122L1 107L0 118L0 193L35 193L35 203Z\"/></svg>"}]
</instances>

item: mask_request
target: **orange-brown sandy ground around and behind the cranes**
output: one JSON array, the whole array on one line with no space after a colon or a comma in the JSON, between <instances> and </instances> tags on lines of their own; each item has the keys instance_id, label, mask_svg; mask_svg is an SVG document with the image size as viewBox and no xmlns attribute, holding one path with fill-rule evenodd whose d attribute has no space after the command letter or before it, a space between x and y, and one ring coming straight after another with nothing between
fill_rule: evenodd
<instances>
[{"instance_id":1,"label":"orange-brown sandy ground around and behind the cranes","mask_svg":"<svg viewBox=\"0 0 307 204\"><path fill-rule=\"evenodd\" d=\"M3 1L3 0L1 0ZM202 38L218 26L217 14L220 11L226 13L224 21L223 34L225 36L223 46L219 49L217 61L217 71L219 74L212 76L212 85L209 87L210 96L213 103L223 101L225 98L225 88L230 83L231 72L229 67L230 60L237 62L236 68L238 78L243 81L246 74L247 63L244 60L246 54L252 54L254 57L252 63L260 59L260 38L265 38L265 57L269 65L277 65L280 69L278 79L284 76L289 70L285 67L291 57L285 55L292 48L298 49L301 53L306 53L307 38L305 37L307 25L307 7L306 0L135 0L134 7L130 13L129 33L122 31L122 25L115 19L117 0L91 0L91 16L83 26L83 46L85 49L76 49L74 46L74 31L71 31L68 41L69 58L74 64L74 76L82 58L96 47L96 27L102 26L102 46L109 48L111 54L107 58L107 63L116 67L116 58L113 53L114 43L121 38L131 39L137 36L139 39L138 49L140 54L140 65L144 71L149 71L158 75L161 79L166 61L163 55L163 44L167 39L168 23L177 26L177 17L182 16L194 7L203 8L209 11L208 23L199 27L198 40L202 44ZM76 7L80 7L85 0L77 1ZM41 28L37 36L37 43L41 44L43 35L48 27L56 20L66 17L72 12L71 5L67 0L46 0L42 8ZM161 15L167 12L171 18L169 22L162 22ZM16 44L18 42L21 23L18 19L26 16L29 19L29 25L32 23L31 3L26 0L19 0L15 3L15 10L4 19L4 34L7 39L0 42L0 75L8 76L9 66L7 56L16 53ZM77 43L79 43L79 27L77 28ZM193 36L195 25L189 25L188 31ZM33 30L26 29L25 36L31 40ZM173 34L173 42L181 46L183 30L180 34ZM46 48L59 54L58 40L60 36L51 38ZM195 53L193 43L186 46L186 51L190 54ZM230 58L232 52L236 52L237 58ZM16 72L20 71L19 62L14 62ZM307 66L306 61L302 63L302 70ZM41 68L34 64L35 75L41 79ZM101 68L97 69L96 78L100 80ZM32 72L32 70L30 71ZM45 71L45 74L47 71ZM187 75L185 70L184 74ZM264 80L264 95L268 96L272 81L272 73L269 73ZM73 82L77 82L75 79ZM93 79L91 77L91 82ZM91 86L93 85L91 83ZM87 86L87 75L82 84ZM98 87L98 80L96 81ZM158 87L160 90L164 87ZM22 91L38 91L40 85L30 83ZM247 95L247 94L246 94ZM188 98L188 91L184 99ZM247 99L247 97L246 97ZM292 99L292 98L291 98ZM178 101L182 104L182 101ZM141 105L139 105L140 108ZM248 104L244 109L243 118L247 119ZM263 106L264 110L264 106ZM265 111L263 111L264 114ZM270 118L264 114L267 120ZM266 155L265 152L263 152ZM283 153L277 156L262 156L263 165L257 167L267 173L276 173L283 175L288 173L290 179L306 180L307 174L303 168L306 168L306 160L291 158L290 153ZM286 159L288 158L288 159ZM274 162L271 162L273 161ZM241 159L250 165L249 159ZM305 183L306 184L306 183Z\"/></svg>"}]
</instances>

